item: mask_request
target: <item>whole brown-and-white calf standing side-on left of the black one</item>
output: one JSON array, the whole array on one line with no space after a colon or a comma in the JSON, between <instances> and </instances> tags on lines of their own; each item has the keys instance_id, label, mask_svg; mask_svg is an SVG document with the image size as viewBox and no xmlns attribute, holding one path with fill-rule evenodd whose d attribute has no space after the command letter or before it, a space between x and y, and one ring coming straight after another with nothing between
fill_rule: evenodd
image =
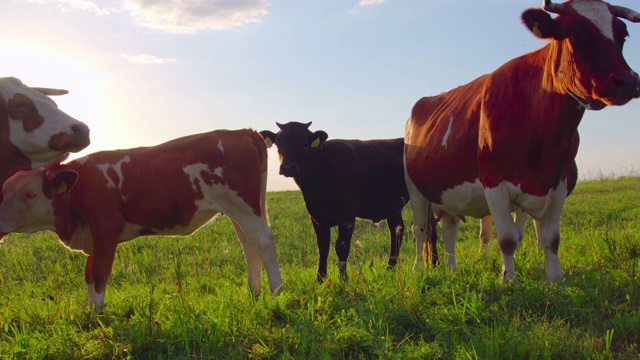
<instances>
[{"instance_id":1,"label":"whole brown-and-white calf standing side-on left of the black one","mask_svg":"<svg viewBox=\"0 0 640 360\"><path fill-rule=\"evenodd\" d=\"M217 130L153 147L103 151L20 171L2 187L0 235L53 230L87 255L87 299L98 313L118 244L189 235L228 215L244 250L250 290L282 285L266 208L267 150L253 130Z\"/></svg>"}]
</instances>

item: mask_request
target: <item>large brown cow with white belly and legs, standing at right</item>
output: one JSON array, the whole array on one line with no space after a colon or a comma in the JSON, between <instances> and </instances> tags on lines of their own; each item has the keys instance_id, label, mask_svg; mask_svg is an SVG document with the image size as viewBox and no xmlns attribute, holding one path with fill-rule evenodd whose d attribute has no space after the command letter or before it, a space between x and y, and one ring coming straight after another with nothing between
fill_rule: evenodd
<instances>
[{"instance_id":1,"label":"large brown cow with white belly and legs, standing at right","mask_svg":"<svg viewBox=\"0 0 640 360\"><path fill-rule=\"evenodd\" d=\"M451 266L460 220L490 214L502 251L502 279L517 281L513 255L519 235L510 214L520 208L539 222L548 281L563 277L560 214L578 150L578 124L586 109L640 97L638 74L622 55L628 33L621 18L640 22L637 12L601 0L547 0L544 10L526 10L522 19L548 45L414 105L405 128L414 226L424 226L431 201L444 220ZM417 232L416 246L423 243Z\"/></svg>"}]
</instances>

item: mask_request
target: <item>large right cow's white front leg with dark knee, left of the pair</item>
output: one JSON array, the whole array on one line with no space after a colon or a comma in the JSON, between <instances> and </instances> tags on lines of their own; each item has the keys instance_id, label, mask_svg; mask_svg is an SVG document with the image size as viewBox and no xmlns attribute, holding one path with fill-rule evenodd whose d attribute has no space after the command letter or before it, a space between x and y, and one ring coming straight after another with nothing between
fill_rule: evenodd
<instances>
[{"instance_id":1,"label":"large right cow's white front leg with dark knee, left of the pair","mask_svg":"<svg viewBox=\"0 0 640 360\"><path fill-rule=\"evenodd\" d=\"M498 235L498 245L502 252L502 282L518 282L515 273L514 254L518 247L518 228L511 217L511 197L506 186L485 189L485 197Z\"/></svg>"}]
</instances>

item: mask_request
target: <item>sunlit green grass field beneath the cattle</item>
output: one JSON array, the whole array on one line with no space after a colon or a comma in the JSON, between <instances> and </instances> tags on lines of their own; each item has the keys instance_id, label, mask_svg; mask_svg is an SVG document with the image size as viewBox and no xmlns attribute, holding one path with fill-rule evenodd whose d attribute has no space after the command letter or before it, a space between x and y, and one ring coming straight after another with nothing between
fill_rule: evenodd
<instances>
[{"instance_id":1,"label":"sunlit green grass field beneath the cattle","mask_svg":"<svg viewBox=\"0 0 640 360\"><path fill-rule=\"evenodd\" d=\"M120 245L104 315L83 306L82 254L50 233L8 236L0 245L0 356L640 358L640 177L580 182L568 198L564 290L545 281L530 220L516 253L518 286L500 284L497 243L481 252L474 219L460 229L457 271L416 272L411 231L388 271L386 225L359 221L349 282L338 279L332 248L329 280L318 285L301 194L269 193L268 206L284 278L279 297L269 295L264 271L263 295L248 295L244 255L224 217L190 237Z\"/></svg>"}]
</instances>

